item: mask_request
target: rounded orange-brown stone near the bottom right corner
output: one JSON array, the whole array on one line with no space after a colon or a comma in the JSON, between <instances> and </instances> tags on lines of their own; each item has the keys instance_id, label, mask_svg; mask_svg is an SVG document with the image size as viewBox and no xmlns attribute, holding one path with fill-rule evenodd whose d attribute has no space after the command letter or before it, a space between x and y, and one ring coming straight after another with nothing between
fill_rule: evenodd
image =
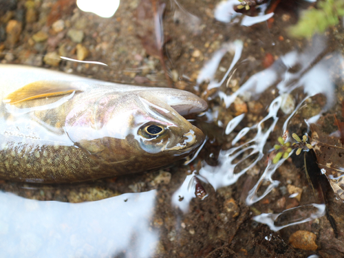
<instances>
[{"instance_id":1,"label":"rounded orange-brown stone near the bottom right corner","mask_svg":"<svg viewBox=\"0 0 344 258\"><path fill-rule=\"evenodd\" d=\"M318 248L315 244L316 235L306 230L297 230L289 237L289 244L293 248L314 251Z\"/></svg>"}]
</instances>

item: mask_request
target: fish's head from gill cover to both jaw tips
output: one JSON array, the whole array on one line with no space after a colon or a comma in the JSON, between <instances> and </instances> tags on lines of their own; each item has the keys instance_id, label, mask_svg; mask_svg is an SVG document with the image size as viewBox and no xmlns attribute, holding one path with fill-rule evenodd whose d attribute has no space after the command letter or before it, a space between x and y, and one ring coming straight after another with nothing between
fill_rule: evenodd
<instances>
[{"instance_id":1,"label":"fish's head from gill cover to both jaw tips","mask_svg":"<svg viewBox=\"0 0 344 258\"><path fill-rule=\"evenodd\" d=\"M181 116L206 109L204 100L189 92L142 90L96 103L71 112L67 133L98 164L114 166L116 175L165 166L204 142L202 131Z\"/></svg>"}]
</instances>

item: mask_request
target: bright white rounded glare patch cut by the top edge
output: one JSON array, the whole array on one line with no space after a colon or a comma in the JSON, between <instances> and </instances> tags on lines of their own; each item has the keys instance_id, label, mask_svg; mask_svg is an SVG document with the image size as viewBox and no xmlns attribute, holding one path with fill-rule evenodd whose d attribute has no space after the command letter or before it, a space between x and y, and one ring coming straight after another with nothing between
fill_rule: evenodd
<instances>
[{"instance_id":1,"label":"bright white rounded glare patch cut by the top edge","mask_svg":"<svg viewBox=\"0 0 344 258\"><path fill-rule=\"evenodd\" d=\"M84 12L93 12L100 17L109 18L115 14L120 0L76 0L76 5Z\"/></svg>"}]
</instances>

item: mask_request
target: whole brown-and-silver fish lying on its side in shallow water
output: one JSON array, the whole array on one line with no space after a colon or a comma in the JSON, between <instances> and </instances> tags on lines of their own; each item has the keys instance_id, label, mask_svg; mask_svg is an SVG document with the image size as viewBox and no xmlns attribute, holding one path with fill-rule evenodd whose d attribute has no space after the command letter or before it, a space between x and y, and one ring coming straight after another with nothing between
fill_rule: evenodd
<instances>
[{"instance_id":1,"label":"whole brown-and-silver fish lying on its side in shallow water","mask_svg":"<svg viewBox=\"0 0 344 258\"><path fill-rule=\"evenodd\" d=\"M0 65L0 178L72 183L167 166L204 133L184 118L207 108L191 92Z\"/></svg>"}]
</instances>

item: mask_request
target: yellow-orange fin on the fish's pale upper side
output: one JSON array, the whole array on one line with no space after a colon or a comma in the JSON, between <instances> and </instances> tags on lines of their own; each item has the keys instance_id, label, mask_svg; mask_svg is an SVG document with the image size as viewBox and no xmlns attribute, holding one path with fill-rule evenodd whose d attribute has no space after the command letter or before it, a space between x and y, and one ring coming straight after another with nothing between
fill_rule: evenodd
<instances>
[{"instance_id":1,"label":"yellow-orange fin on the fish's pale upper side","mask_svg":"<svg viewBox=\"0 0 344 258\"><path fill-rule=\"evenodd\" d=\"M72 92L82 92L75 83L67 81L53 81L53 80L39 80L34 83L29 83L15 92L8 94L4 98L5 103L16 104L26 100L33 100L36 98L50 98L53 96L60 96L70 94Z\"/></svg>"}]
</instances>

